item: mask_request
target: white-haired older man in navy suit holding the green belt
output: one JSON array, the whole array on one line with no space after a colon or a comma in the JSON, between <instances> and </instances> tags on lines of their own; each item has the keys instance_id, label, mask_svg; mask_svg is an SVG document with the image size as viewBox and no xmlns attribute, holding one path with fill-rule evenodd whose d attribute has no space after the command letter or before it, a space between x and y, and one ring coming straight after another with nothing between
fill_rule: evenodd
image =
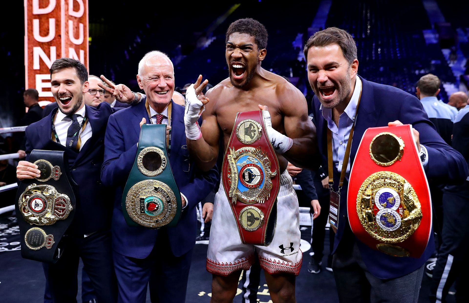
<instances>
[{"instance_id":1,"label":"white-haired older man in navy suit holding the green belt","mask_svg":"<svg viewBox=\"0 0 469 303\"><path fill-rule=\"evenodd\" d=\"M197 236L196 206L218 182L218 171L216 168L206 173L196 171L189 158L184 107L171 100L174 92L171 60L162 52L149 52L138 65L137 81L146 96L136 106L116 112L109 118L101 170L103 184L115 190L111 229L118 301L145 302L151 276L152 298L158 298L162 303L182 303L186 298L192 249ZM110 86L113 87L112 83ZM106 90L119 96L121 101L127 98L117 87ZM171 107L168 106L170 103ZM172 112L168 114L170 108ZM171 117L170 121L168 117ZM140 127L144 123L166 124L172 132L169 162L182 198L181 219L174 228L130 227L122 214L122 190L136 157Z\"/></svg>"}]
</instances>

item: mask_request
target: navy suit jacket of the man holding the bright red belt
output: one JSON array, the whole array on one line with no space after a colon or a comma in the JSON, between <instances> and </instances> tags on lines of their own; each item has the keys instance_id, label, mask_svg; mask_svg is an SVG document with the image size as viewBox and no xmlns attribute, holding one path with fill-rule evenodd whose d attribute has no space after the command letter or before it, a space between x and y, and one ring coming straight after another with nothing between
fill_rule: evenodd
<instances>
[{"instance_id":1,"label":"navy suit jacket of the man holding the bright red belt","mask_svg":"<svg viewBox=\"0 0 469 303\"><path fill-rule=\"evenodd\" d=\"M350 167L352 167L355 155L363 137L363 133L369 127L387 126L388 122L399 120L403 124L411 124L420 136L420 143L428 151L428 167L425 170L429 180L445 180L448 182L462 182L468 176L468 167L462 155L451 148L441 139L435 126L428 119L422 103L401 89L366 81L362 77L362 99L358 108L357 122L353 134L350 151ZM323 163L327 163L327 122L319 110L320 103L317 96L313 97L314 121L318 136L318 148L323 157ZM339 182L339 174L334 167L334 184ZM339 229L335 235L334 249L353 243L353 236L348 224L347 215L347 189L345 180L340 192L340 219ZM335 189L337 190L337 189ZM350 201L355 203L355 201ZM400 258L388 256L382 252L373 250L355 238L362 253L363 261L368 270L381 279L392 279L404 276L420 268L434 251L433 232L422 256L416 258Z\"/></svg>"}]
</instances>

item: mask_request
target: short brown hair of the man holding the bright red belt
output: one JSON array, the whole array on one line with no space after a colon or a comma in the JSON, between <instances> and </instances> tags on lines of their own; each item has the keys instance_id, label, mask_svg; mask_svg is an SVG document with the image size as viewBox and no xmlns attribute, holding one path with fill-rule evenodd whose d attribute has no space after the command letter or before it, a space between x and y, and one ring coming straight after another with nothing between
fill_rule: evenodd
<instances>
[{"instance_id":1,"label":"short brown hair of the man holding the bright red belt","mask_svg":"<svg viewBox=\"0 0 469 303\"><path fill-rule=\"evenodd\" d=\"M330 27L312 35L306 44L304 44L304 58L308 59L308 51L311 47L321 47L331 44L339 44L348 65L352 64L353 60L357 59L355 40L347 31L336 27Z\"/></svg>"}]
</instances>

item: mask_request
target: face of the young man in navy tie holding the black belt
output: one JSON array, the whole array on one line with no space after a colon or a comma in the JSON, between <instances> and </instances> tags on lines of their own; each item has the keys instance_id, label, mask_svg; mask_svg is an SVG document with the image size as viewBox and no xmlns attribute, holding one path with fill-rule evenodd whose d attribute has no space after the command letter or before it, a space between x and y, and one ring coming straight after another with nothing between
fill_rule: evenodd
<instances>
[{"instance_id":1,"label":"face of the young man in navy tie holding the black belt","mask_svg":"<svg viewBox=\"0 0 469 303\"><path fill-rule=\"evenodd\" d=\"M88 81L82 84L75 68L64 68L51 75L51 91L60 111L71 115L84 106L83 93L88 91Z\"/></svg>"}]
</instances>

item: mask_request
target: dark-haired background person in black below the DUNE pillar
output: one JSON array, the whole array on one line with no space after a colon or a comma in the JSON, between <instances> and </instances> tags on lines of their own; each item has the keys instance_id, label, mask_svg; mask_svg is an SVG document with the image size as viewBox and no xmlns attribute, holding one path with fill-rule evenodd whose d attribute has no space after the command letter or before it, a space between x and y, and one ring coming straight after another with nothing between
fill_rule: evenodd
<instances>
[{"instance_id":1,"label":"dark-haired background person in black below the DUNE pillar","mask_svg":"<svg viewBox=\"0 0 469 303\"><path fill-rule=\"evenodd\" d=\"M24 114L18 126L28 126L42 119L42 107L39 106L39 93L36 89L26 89L23 93L23 101L24 105L28 108L28 112ZM15 137L18 142L21 142L17 151L19 154L18 158L23 159L26 156L24 152L24 144L26 143L24 133L16 133Z\"/></svg>"}]
</instances>

